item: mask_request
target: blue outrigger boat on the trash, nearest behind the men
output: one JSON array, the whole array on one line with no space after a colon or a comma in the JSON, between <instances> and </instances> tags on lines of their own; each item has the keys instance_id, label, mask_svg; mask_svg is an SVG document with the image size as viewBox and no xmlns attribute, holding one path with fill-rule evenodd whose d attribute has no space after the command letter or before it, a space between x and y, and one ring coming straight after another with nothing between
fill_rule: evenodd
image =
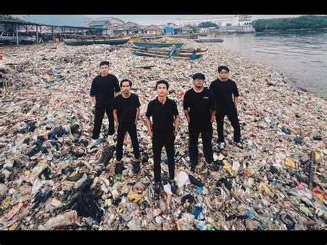
<instances>
[{"instance_id":1,"label":"blue outrigger boat on the trash, nearest behind the men","mask_svg":"<svg viewBox=\"0 0 327 245\"><path fill-rule=\"evenodd\" d=\"M205 50L192 48L131 48L133 55L165 57L172 59L199 59L204 56Z\"/></svg>"}]
</instances>

